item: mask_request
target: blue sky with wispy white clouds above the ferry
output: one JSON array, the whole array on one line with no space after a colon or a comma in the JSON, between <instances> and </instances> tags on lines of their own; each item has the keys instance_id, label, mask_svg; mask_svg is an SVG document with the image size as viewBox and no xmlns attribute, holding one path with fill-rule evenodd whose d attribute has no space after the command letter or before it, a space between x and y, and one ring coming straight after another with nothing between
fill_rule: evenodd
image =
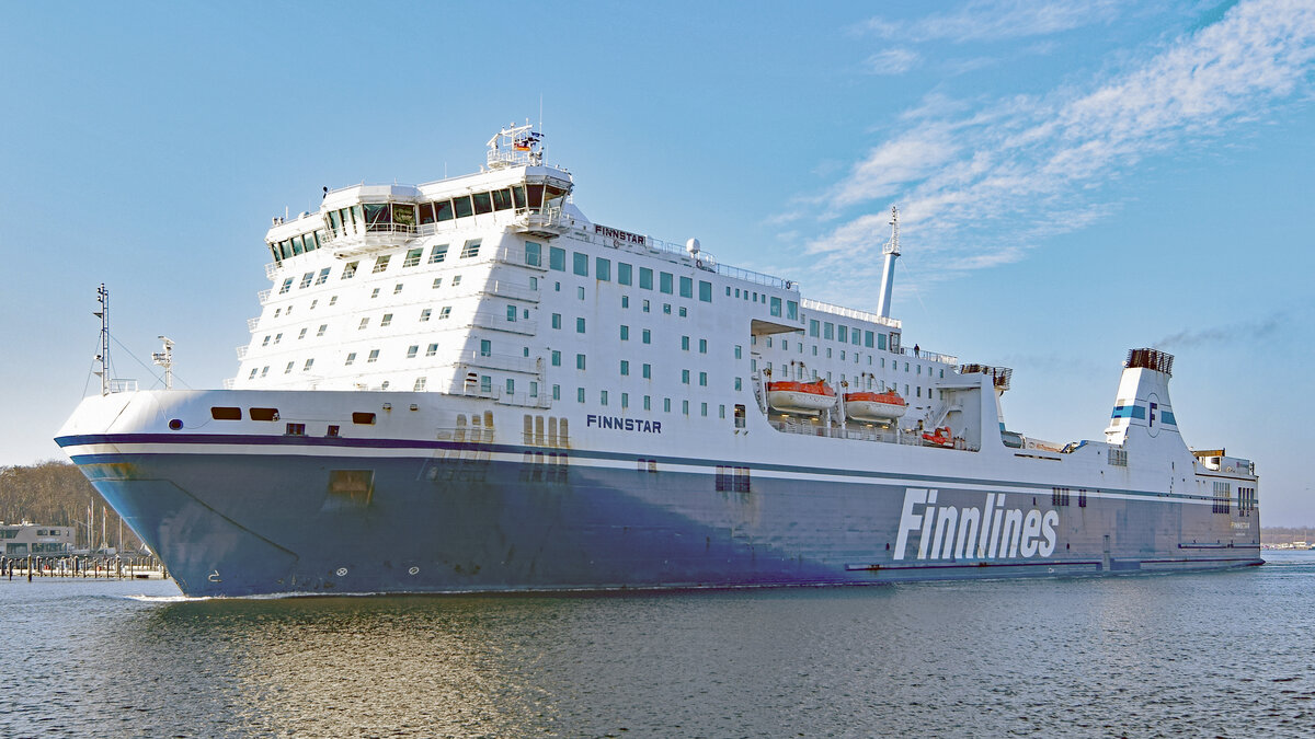
<instances>
[{"instance_id":1,"label":"blue sky with wispy white clouds above the ferry","mask_svg":"<svg viewBox=\"0 0 1315 739\"><path fill-rule=\"evenodd\" d=\"M272 216L476 171L542 121L594 222L1014 368L1010 429L1099 439L1128 348L1186 442L1315 527L1315 3L132 3L0 25L0 465L114 375L221 387Z\"/></svg>"}]
</instances>

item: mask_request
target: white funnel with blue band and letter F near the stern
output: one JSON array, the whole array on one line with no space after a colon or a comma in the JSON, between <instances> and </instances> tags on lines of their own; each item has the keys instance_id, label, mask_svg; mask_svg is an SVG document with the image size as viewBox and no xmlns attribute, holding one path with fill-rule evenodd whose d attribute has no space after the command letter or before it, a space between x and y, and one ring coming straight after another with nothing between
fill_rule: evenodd
<instances>
[{"instance_id":1,"label":"white funnel with blue band and letter F near the stern","mask_svg":"<svg viewBox=\"0 0 1315 739\"><path fill-rule=\"evenodd\" d=\"M1169 401L1169 377L1173 375L1173 355L1157 348L1128 350L1123 363L1123 377L1110 414L1106 441L1124 443L1130 437L1145 434L1178 435L1178 423Z\"/></svg>"}]
</instances>

